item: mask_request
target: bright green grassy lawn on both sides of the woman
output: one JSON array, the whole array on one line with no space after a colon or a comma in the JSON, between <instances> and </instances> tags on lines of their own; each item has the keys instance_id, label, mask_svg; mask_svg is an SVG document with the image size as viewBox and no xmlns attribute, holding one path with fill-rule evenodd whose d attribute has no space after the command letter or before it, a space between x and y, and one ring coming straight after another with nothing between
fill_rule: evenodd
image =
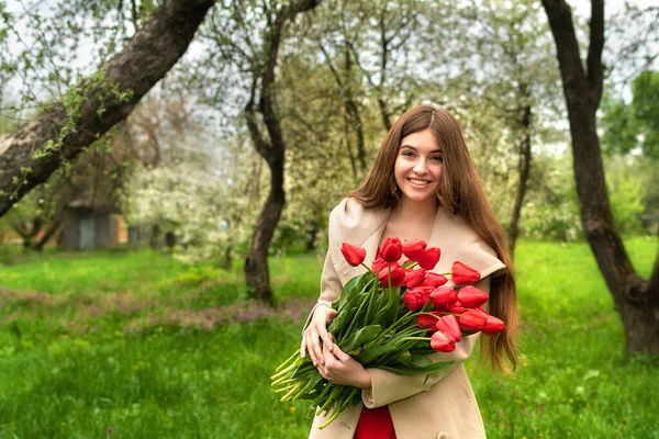
<instances>
[{"instance_id":1,"label":"bright green grassy lawn on both sides of the woman","mask_svg":"<svg viewBox=\"0 0 659 439\"><path fill-rule=\"evenodd\" d=\"M649 275L656 241L626 245ZM305 438L306 403L280 403L269 376L299 346L321 269L272 259L270 311L245 301L241 261L0 251L0 438ZM522 241L516 270L517 373L467 365L489 437L659 438L659 361L625 353L588 246Z\"/></svg>"}]
</instances>

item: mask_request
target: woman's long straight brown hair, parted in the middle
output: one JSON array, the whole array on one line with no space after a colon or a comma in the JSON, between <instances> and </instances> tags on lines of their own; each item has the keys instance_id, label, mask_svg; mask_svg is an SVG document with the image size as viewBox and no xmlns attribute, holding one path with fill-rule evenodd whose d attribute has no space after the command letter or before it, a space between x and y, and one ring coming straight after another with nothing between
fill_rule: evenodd
<instances>
[{"instance_id":1,"label":"woman's long straight brown hair, parted in the middle","mask_svg":"<svg viewBox=\"0 0 659 439\"><path fill-rule=\"evenodd\" d=\"M437 189L439 203L450 215L463 218L496 251L499 259L507 268L505 274L491 279L488 302L490 314L505 322L505 329L482 337L481 347L490 356L494 368L509 371L504 363L505 354L514 370L517 365L518 316L513 261L505 233L488 202L458 121L448 111L433 105L407 110L387 133L373 166L359 188L348 196L355 196L367 207L395 209L402 199L393 172L401 140L427 128L435 133L444 158L444 170Z\"/></svg>"}]
</instances>

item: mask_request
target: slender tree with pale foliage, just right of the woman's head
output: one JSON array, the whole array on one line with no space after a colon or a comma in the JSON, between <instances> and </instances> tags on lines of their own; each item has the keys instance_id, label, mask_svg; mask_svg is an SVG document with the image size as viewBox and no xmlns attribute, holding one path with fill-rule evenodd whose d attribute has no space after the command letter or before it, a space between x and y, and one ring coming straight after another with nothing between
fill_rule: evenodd
<instances>
[{"instance_id":1,"label":"slender tree with pale foliage, just right of the woman's head","mask_svg":"<svg viewBox=\"0 0 659 439\"><path fill-rule=\"evenodd\" d=\"M485 184L494 190L498 214L507 219L502 222L514 252L532 170L538 171L533 167L534 149L556 137L558 130L548 127L563 111L548 25L539 4L530 0L505 5L491 0L462 2L450 15L439 14L437 22L440 37L431 33L432 43L460 41L443 47L435 60L436 70L447 69L444 95L459 106L468 131L478 131L482 138L472 145L481 153L479 169L500 170L483 177L493 175L498 180Z\"/></svg>"}]
</instances>

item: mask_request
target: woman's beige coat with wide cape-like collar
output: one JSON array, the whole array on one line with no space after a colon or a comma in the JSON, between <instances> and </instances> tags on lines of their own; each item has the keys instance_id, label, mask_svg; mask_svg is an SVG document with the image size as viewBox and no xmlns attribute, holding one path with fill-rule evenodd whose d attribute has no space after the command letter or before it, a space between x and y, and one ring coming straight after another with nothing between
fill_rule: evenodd
<instances>
[{"instance_id":1,"label":"woman's beige coat with wide cape-like collar","mask_svg":"<svg viewBox=\"0 0 659 439\"><path fill-rule=\"evenodd\" d=\"M387 226L390 210L365 209L355 199L344 199L330 215L330 248L321 275L321 303L334 302L343 285L364 267L350 267L340 252L343 243L366 249L365 263L370 267ZM433 271L450 271L459 260L481 272L476 286L489 292L490 275L505 272L494 250L484 244L459 217L450 217L444 209L437 211L428 247L439 247L442 258ZM453 285L449 281L448 285ZM313 309L304 327L309 325ZM367 369L371 389L361 392L362 403L369 407L389 404L398 439L470 439L484 438L485 430L476 397L462 362L469 358L478 334L462 338L450 353L437 352L434 361L455 361L442 372L431 375L403 376L380 369ZM330 426L319 429L326 417L316 416L310 438L351 439L361 406L353 406L340 414Z\"/></svg>"}]
</instances>

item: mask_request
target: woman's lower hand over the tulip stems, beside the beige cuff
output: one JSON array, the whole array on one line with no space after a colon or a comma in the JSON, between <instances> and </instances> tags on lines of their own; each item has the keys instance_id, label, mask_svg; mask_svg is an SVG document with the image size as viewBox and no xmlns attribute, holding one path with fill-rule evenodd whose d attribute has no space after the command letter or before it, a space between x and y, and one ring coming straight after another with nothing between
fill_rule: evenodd
<instances>
[{"instance_id":1,"label":"woman's lower hand over the tulip stems, beside the beige cuff","mask_svg":"<svg viewBox=\"0 0 659 439\"><path fill-rule=\"evenodd\" d=\"M353 357L340 350L337 345L323 347L325 361L317 365L321 375L334 384L353 385L360 389L370 389L370 374L364 365Z\"/></svg>"}]
</instances>

